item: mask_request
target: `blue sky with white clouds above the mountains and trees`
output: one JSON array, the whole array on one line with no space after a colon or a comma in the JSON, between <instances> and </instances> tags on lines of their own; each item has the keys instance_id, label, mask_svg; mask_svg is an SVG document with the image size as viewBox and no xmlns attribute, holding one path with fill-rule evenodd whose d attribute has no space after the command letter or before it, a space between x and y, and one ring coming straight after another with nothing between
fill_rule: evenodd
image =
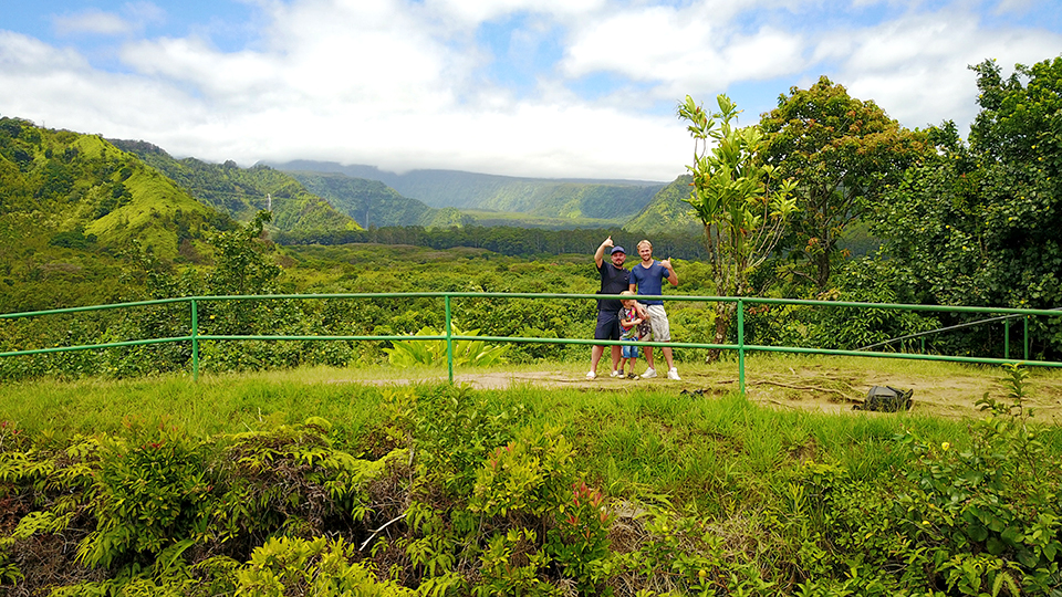
<instances>
[{"instance_id":1,"label":"blue sky with white clouds above the mountains and trees","mask_svg":"<svg viewBox=\"0 0 1062 597\"><path fill-rule=\"evenodd\" d=\"M0 116L177 158L670 181L676 107L820 76L908 128L1062 55L1062 1L0 0Z\"/></svg>"}]
</instances>

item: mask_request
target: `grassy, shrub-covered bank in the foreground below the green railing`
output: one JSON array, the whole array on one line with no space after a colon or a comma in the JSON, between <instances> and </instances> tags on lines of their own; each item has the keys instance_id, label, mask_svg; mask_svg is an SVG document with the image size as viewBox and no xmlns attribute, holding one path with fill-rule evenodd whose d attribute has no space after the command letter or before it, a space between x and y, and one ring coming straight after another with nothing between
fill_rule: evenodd
<instances>
[{"instance_id":1,"label":"grassy, shrub-covered bank in the foreground below the green railing","mask_svg":"<svg viewBox=\"0 0 1062 597\"><path fill-rule=\"evenodd\" d=\"M864 363L749 365L758 379L824 368L837 378ZM732 365L687 366L684 380L732 376ZM510 369L584 373L581 363ZM1058 511L1062 432L1008 406L1016 387L1028 406L1053 377L1008 386L1000 369L889 362L881 370L995 378L1000 410L831 413L733 391L683 394L694 386L664 381L476 389L438 381L438 369L8 384L0 579L23 591L272 595L248 579L268 569L289 593L320 589L323 576L295 572L331 562L335 574L367 567L369 579L343 586L378 595L936 596L977 595L967 589L997 579L1003 591L1053 595L1044 587L1059 579L1062 519L1043 516ZM80 476L71 459L86 468ZM361 484L336 485L355 462L364 462L352 469L363 471ZM169 476L167 467L186 472ZM65 476L53 479L59 471ZM174 486L200 498L174 498ZM342 504L354 488L351 517ZM129 514L116 495L140 495L142 505ZM155 502L198 517L162 524L143 505ZM65 520L50 517L62 512L76 513L67 526L42 523ZM580 517L587 512L601 522ZM565 534L566 524L585 525L584 538ZM122 528L136 531L116 535ZM59 536L82 555L45 557L40 546ZM344 547L357 544L374 546ZM168 568L164 556L176 558ZM219 562L228 567L210 567ZM38 578L45 568L50 585ZM334 594L365 594L357 590Z\"/></svg>"}]
</instances>

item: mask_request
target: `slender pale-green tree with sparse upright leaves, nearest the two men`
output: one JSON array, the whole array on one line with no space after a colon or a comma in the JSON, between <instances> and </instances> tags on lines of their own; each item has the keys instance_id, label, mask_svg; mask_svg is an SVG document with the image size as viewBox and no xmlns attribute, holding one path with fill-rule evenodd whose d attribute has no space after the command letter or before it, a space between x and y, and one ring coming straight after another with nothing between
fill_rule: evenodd
<instances>
[{"instance_id":1,"label":"slender pale-green tree with sparse upright leaves, nearest the two men","mask_svg":"<svg viewBox=\"0 0 1062 597\"><path fill-rule=\"evenodd\" d=\"M745 296L757 269L774 251L785 222L796 210L791 197L795 184L778 185L774 168L763 164L763 134L758 126L736 128L737 106L726 95L717 97L719 112L709 115L686 96L678 116L689 121L694 137L694 165L687 203L705 229L705 245L716 283L716 294ZM709 147L710 142L714 147ZM715 344L726 341L733 303L716 303ZM709 360L718 350L709 353Z\"/></svg>"}]
</instances>

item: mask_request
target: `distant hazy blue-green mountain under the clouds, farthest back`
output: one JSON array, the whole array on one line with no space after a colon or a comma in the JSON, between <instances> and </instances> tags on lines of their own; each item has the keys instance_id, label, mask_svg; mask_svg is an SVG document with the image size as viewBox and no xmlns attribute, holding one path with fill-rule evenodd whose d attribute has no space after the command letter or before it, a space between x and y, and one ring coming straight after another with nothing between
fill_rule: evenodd
<instances>
[{"instance_id":1,"label":"distant hazy blue-green mountain under the clouds, farthest back","mask_svg":"<svg viewBox=\"0 0 1062 597\"><path fill-rule=\"evenodd\" d=\"M530 213L546 218L624 221L638 213L664 185L634 180L553 180L413 170L393 174L372 166L298 160L274 164L284 171L343 174L379 180L405 197L436 208Z\"/></svg>"}]
</instances>

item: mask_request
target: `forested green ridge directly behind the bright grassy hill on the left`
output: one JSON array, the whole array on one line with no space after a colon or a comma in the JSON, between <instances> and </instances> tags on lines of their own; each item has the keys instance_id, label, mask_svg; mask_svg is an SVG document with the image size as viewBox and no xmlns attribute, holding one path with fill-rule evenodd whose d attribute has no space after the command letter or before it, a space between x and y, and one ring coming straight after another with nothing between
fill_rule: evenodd
<instances>
[{"instance_id":1,"label":"forested green ridge directly behind the bright grassy hill on the left","mask_svg":"<svg viewBox=\"0 0 1062 597\"><path fill-rule=\"evenodd\" d=\"M195 158L174 159L142 140L112 139L116 147L140 157L174 179L199 201L240 221L250 221L263 209L273 212L279 230L360 230L347 213L306 190L292 176L264 165L240 168L233 161L207 164Z\"/></svg>"}]
</instances>

